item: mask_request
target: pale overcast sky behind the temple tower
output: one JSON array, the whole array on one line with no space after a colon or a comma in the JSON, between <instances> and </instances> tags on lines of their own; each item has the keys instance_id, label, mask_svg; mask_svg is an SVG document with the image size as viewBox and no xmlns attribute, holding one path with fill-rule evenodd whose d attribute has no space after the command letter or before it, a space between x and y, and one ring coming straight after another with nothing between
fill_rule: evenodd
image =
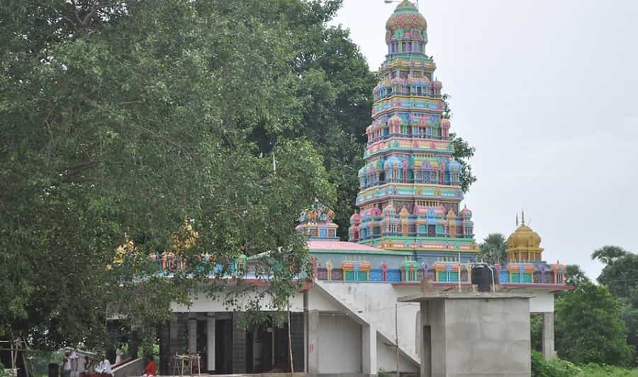
<instances>
[{"instance_id":1,"label":"pale overcast sky behind the temple tower","mask_svg":"<svg viewBox=\"0 0 638 377\"><path fill-rule=\"evenodd\" d=\"M452 131L476 147L464 203L477 240L525 210L543 258L589 278L607 244L638 252L638 1L421 0ZM344 0L371 69L396 4ZM637 221L638 225L638 221Z\"/></svg>"}]
</instances>

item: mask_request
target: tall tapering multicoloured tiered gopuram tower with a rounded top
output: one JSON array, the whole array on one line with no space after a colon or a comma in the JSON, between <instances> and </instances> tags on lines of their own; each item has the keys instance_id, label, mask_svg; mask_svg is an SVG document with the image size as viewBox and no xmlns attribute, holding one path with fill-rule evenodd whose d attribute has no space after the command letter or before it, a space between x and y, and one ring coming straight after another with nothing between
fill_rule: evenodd
<instances>
[{"instance_id":1,"label":"tall tapering multicoloured tiered gopuram tower with a rounded top","mask_svg":"<svg viewBox=\"0 0 638 377\"><path fill-rule=\"evenodd\" d=\"M476 259L474 223L460 205L461 164L452 157L436 64L426 55L427 23L408 0L387 21L386 44L349 240L413 252L422 269L456 271L455 263Z\"/></svg>"}]
</instances>

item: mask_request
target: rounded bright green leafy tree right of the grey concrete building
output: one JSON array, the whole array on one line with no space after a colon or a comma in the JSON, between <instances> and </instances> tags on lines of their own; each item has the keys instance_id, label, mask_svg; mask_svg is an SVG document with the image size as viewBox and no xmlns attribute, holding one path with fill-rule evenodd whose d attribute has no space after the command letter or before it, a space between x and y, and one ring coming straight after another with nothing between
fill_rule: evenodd
<instances>
[{"instance_id":1,"label":"rounded bright green leafy tree right of the grey concrete building","mask_svg":"<svg viewBox=\"0 0 638 377\"><path fill-rule=\"evenodd\" d=\"M631 362L620 301L605 286L581 283L556 299L555 313L556 350L561 358L578 364Z\"/></svg>"}]
</instances>

